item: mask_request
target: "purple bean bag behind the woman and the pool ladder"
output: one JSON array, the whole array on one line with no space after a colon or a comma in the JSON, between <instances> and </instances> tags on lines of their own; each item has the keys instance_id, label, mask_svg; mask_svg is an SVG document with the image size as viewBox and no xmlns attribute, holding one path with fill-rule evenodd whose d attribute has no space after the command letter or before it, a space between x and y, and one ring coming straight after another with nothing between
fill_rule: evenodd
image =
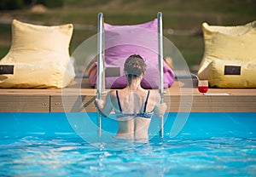
<instances>
[{"instance_id":1,"label":"purple bean bag behind the woman and the pool ladder","mask_svg":"<svg viewBox=\"0 0 256 177\"><path fill-rule=\"evenodd\" d=\"M157 19L134 26L111 26L104 24L105 67L119 67L119 76L106 77L106 88L125 88L125 60L131 54L139 54L147 64L147 71L141 83L143 88L158 88L158 29ZM96 67L96 63L94 64ZM93 67L92 67L93 68ZM164 87L171 87L174 72L164 62ZM96 69L89 72L92 86L96 85Z\"/></svg>"}]
</instances>

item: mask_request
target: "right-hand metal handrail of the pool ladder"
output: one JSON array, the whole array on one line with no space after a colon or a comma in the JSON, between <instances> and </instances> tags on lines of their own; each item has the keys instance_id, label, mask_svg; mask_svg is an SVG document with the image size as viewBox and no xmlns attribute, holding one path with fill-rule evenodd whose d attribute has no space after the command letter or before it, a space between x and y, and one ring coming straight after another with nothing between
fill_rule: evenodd
<instances>
[{"instance_id":1,"label":"right-hand metal handrail of the pool ladder","mask_svg":"<svg viewBox=\"0 0 256 177\"><path fill-rule=\"evenodd\" d=\"M163 67L163 23L162 23L162 13L157 14L158 20L158 66L159 66L159 92L161 100L164 102L164 67ZM160 118L160 138L164 137L164 117Z\"/></svg>"}]
</instances>

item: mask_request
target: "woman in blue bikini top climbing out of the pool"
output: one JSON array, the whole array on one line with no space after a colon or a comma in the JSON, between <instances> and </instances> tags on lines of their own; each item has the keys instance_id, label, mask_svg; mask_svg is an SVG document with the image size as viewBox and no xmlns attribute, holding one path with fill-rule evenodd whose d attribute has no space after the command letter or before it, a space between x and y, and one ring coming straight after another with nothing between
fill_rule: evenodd
<instances>
[{"instance_id":1,"label":"woman in blue bikini top climbing out of the pool","mask_svg":"<svg viewBox=\"0 0 256 177\"><path fill-rule=\"evenodd\" d=\"M158 92L141 87L146 64L140 55L133 54L125 60L124 71L127 86L108 92L105 102L96 99L95 105L104 117L108 117L112 110L115 111L119 125L118 138L148 140L151 117L153 114L162 117L167 106L160 103Z\"/></svg>"}]
</instances>

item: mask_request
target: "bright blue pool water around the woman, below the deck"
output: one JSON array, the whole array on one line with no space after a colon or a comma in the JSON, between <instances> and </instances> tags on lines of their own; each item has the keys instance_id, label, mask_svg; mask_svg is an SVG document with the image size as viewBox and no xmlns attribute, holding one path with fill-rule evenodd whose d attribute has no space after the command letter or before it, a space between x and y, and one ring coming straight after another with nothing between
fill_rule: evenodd
<instances>
[{"instance_id":1,"label":"bright blue pool water around the woman, below the deck","mask_svg":"<svg viewBox=\"0 0 256 177\"><path fill-rule=\"evenodd\" d=\"M167 115L164 139L154 118L151 139L138 143L105 137L117 130L109 118L97 138L83 113L0 113L0 176L256 176L256 113L190 113L170 138L176 116Z\"/></svg>"}]
</instances>

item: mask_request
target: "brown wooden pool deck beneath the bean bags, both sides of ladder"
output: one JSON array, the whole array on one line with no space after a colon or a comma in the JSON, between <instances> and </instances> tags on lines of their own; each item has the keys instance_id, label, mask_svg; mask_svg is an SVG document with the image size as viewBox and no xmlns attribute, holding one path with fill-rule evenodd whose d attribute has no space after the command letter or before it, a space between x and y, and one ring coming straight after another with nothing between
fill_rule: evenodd
<instances>
[{"instance_id":1,"label":"brown wooden pool deck beneath the bean bags, both sides of ladder","mask_svg":"<svg viewBox=\"0 0 256 177\"><path fill-rule=\"evenodd\" d=\"M256 88L209 88L213 95L204 95L176 81L165 91L171 112L256 111ZM95 98L96 89L86 79L63 89L0 88L0 112L94 112Z\"/></svg>"}]
</instances>

